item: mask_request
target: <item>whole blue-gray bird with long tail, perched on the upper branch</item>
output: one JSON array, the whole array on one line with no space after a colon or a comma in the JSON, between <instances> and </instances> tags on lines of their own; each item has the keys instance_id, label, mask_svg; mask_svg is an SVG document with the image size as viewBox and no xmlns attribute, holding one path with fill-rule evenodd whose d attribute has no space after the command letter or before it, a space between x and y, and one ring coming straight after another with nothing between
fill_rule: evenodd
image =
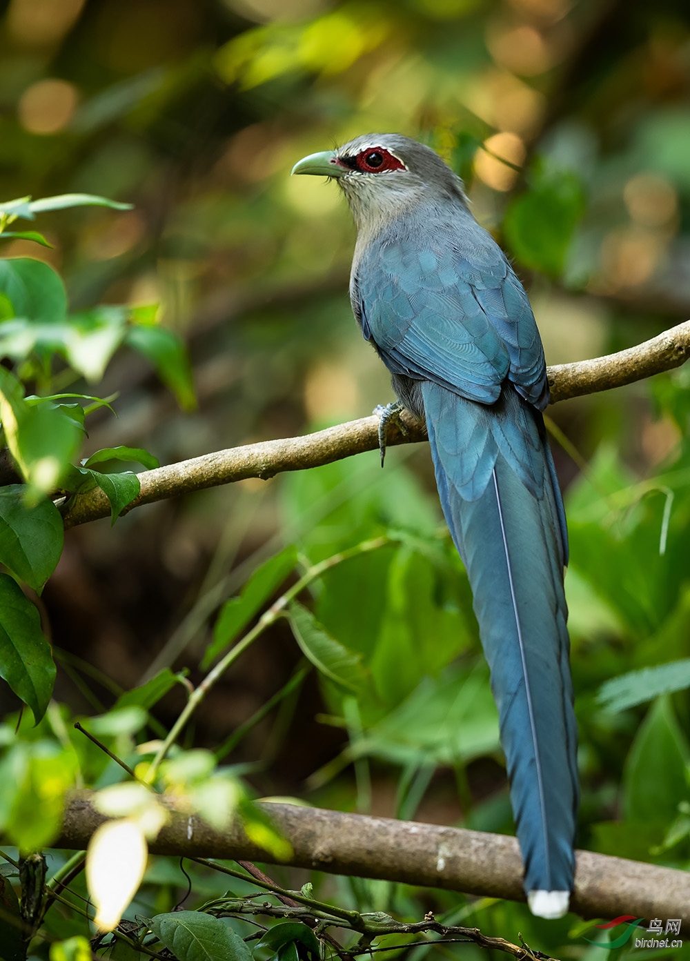
<instances>
[{"instance_id":1,"label":"whole blue-gray bird with long tail, perched on the upper branch","mask_svg":"<svg viewBox=\"0 0 690 961\"><path fill-rule=\"evenodd\" d=\"M527 294L462 181L406 136L300 160L357 225L350 296L400 402L426 422L438 493L491 669L533 914L566 913L579 803L563 574L568 539Z\"/></svg>"}]
</instances>

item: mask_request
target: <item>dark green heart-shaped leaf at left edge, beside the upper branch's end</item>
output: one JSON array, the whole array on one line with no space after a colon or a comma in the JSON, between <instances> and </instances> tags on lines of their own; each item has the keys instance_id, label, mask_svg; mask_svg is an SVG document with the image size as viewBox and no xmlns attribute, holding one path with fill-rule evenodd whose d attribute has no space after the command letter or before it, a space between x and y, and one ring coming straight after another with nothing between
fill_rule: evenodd
<instances>
[{"instance_id":1,"label":"dark green heart-shaped leaf at left edge, beside the upper branch's end","mask_svg":"<svg viewBox=\"0 0 690 961\"><path fill-rule=\"evenodd\" d=\"M62 554L60 511L43 499L29 506L22 484L0 487L0 562L40 592Z\"/></svg>"}]
</instances>

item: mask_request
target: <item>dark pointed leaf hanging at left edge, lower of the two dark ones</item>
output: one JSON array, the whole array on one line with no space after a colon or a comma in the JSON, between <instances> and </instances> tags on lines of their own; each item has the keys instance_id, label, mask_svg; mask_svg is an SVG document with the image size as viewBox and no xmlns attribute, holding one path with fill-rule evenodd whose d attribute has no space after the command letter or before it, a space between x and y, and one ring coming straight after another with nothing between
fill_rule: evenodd
<instances>
[{"instance_id":1,"label":"dark pointed leaf hanging at left edge, lower of the two dark ones","mask_svg":"<svg viewBox=\"0 0 690 961\"><path fill-rule=\"evenodd\" d=\"M40 721L53 693L55 664L36 606L9 574L0 574L0 678Z\"/></svg>"}]
</instances>

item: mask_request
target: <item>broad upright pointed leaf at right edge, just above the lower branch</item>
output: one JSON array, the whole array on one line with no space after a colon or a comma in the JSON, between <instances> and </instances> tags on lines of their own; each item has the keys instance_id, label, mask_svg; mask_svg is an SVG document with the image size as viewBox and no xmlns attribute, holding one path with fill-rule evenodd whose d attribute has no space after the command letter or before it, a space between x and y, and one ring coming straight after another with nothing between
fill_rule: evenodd
<instances>
[{"instance_id":1,"label":"broad upright pointed leaf at right edge, just above the lower branch","mask_svg":"<svg viewBox=\"0 0 690 961\"><path fill-rule=\"evenodd\" d=\"M688 799L685 766L690 749L668 695L655 701L638 729L626 760L623 810L626 821L666 827ZM663 835L662 835L663 836Z\"/></svg>"}]
</instances>

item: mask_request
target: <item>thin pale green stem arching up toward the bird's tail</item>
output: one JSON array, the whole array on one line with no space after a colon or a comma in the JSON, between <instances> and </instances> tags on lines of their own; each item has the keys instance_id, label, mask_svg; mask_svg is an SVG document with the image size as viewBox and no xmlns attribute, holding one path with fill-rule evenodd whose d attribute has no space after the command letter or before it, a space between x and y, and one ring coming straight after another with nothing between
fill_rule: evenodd
<instances>
[{"instance_id":1,"label":"thin pale green stem arching up toward the bird's tail","mask_svg":"<svg viewBox=\"0 0 690 961\"><path fill-rule=\"evenodd\" d=\"M194 690L189 695L189 700L186 702L185 707L180 713L175 724L170 728L170 731L160 745L159 751L156 753L151 766L146 775L146 779L149 783L153 782L155 776L160 768L160 763L164 759L167 752L170 750L173 744L177 741L178 737L182 733L187 721L194 713L199 704L204 700L204 698L209 693L209 690L220 678L223 677L228 668L234 664L234 661L239 657L240 654L244 653L250 645L254 644L258 637L263 633L266 628L269 628L272 624L275 624L280 618L285 616L285 608L291 601L294 601L305 587L320 578L326 571L329 571L332 567L337 564L342 564L345 560L350 560L352 557L357 557L358 554L367 554L370 551L378 551L382 547L386 547L388 544L393 543L393 538L389 536L376 537L373 540L362 541L361 544L357 544L356 547L349 548L347 551L341 551L339 554L333 554L331 557L327 557L326 560L320 561L318 564L314 564L310 567L307 573L301 577L289 590L285 591L280 598L268 608L259 618L259 621L254 628L247 631L244 637L238 641L234 648L225 654L215 667L211 668L209 674L204 678L201 683L194 688Z\"/></svg>"}]
</instances>

